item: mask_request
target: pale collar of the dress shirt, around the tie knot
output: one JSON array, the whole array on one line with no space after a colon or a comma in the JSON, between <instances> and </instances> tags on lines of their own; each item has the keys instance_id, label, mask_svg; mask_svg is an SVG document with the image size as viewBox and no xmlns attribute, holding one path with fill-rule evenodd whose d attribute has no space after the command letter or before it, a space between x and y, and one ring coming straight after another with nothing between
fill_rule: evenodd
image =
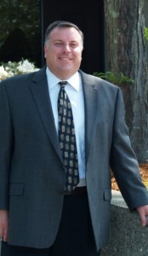
<instances>
[{"instance_id":1,"label":"pale collar of the dress shirt, around the tie knot","mask_svg":"<svg viewBox=\"0 0 148 256\"><path fill-rule=\"evenodd\" d=\"M49 90L52 90L54 88L54 86L59 84L59 82L61 80L59 78L57 78L54 75L54 73L52 73L48 69L48 67L46 68L46 74L47 74L47 79L48 79L48 88L49 88ZM66 81L68 82L68 84L71 84L71 86L77 91L79 91L82 87L81 76L78 72L75 73L73 76L71 76L70 79L67 79Z\"/></svg>"}]
</instances>

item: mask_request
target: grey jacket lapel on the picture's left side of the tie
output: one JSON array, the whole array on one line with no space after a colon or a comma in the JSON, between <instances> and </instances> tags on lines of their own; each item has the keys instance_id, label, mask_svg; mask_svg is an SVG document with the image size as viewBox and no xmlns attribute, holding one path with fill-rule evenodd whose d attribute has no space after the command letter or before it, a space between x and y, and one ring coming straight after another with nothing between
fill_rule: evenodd
<instances>
[{"instance_id":1,"label":"grey jacket lapel on the picture's left side of the tie","mask_svg":"<svg viewBox=\"0 0 148 256\"><path fill-rule=\"evenodd\" d=\"M45 131L48 134L49 140L52 143L55 152L58 154L60 160L62 161L59 140L54 125L54 114L48 95L48 82L46 79L45 68L40 70L32 80L31 92L36 103L38 113L42 119Z\"/></svg>"}]
</instances>

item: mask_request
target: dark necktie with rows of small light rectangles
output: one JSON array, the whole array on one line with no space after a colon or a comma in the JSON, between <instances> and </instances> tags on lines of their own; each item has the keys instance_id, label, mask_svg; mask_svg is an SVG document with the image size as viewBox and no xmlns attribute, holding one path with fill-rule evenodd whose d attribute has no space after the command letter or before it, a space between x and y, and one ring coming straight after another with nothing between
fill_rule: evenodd
<instances>
[{"instance_id":1,"label":"dark necktie with rows of small light rectangles","mask_svg":"<svg viewBox=\"0 0 148 256\"><path fill-rule=\"evenodd\" d=\"M59 141L65 165L65 191L72 191L73 189L76 188L77 183L79 183L77 144L71 110L71 102L65 92L65 84L67 84L67 82L62 81L59 84Z\"/></svg>"}]
</instances>

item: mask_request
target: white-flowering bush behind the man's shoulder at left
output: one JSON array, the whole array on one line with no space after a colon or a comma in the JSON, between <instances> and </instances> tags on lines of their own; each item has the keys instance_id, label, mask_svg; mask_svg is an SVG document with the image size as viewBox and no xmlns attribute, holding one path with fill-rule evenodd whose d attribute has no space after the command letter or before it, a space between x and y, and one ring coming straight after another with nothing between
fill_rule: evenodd
<instances>
[{"instance_id":1,"label":"white-flowering bush behind the man's shoulder at left","mask_svg":"<svg viewBox=\"0 0 148 256\"><path fill-rule=\"evenodd\" d=\"M31 73L37 71L38 68L35 67L33 63L28 60L22 60L19 62L9 61L8 63L1 63L0 66L0 81L3 79L9 79L17 74Z\"/></svg>"}]
</instances>

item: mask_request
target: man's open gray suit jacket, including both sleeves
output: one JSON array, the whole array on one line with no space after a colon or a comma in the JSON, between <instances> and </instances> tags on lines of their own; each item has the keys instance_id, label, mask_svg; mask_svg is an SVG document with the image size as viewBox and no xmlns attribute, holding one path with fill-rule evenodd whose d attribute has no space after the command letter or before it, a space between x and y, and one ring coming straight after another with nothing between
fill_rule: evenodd
<instances>
[{"instance_id":1,"label":"man's open gray suit jacket, including both sleeves","mask_svg":"<svg viewBox=\"0 0 148 256\"><path fill-rule=\"evenodd\" d=\"M148 204L124 123L122 92L81 72L88 202L96 247L109 238L110 166L133 210ZM65 172L45 67L0 83L0 208L9 209L9 243L50 247L59 229Z\"/></svg>"}]
</instances>

